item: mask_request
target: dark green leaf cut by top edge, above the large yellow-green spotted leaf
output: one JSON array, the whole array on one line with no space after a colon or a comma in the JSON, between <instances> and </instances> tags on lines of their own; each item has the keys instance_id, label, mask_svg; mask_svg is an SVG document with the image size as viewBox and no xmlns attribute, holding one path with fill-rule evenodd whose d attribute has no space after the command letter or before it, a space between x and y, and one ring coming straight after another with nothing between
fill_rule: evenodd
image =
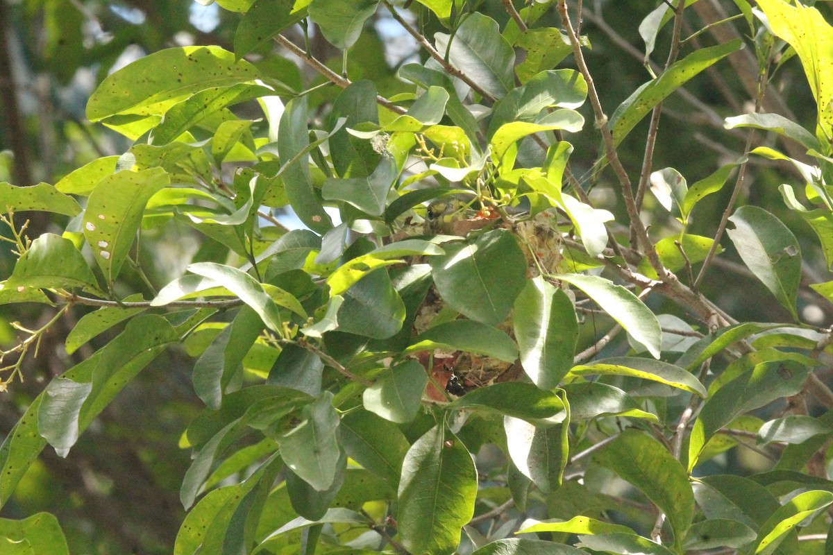
<instances>
[{"instance_id":1,"label":"dark green leaf cut by top edge, above the large yellow-green spotted leaf","mask_svg":"<svg viewBox=\"0 0 833 555\"><path fill-rule=\"evenodd\" d=\"M246 56L287 27L307 17L310 0L257 0L252 4L234 33L234 54Z\"/></svg>"}]
</instances>

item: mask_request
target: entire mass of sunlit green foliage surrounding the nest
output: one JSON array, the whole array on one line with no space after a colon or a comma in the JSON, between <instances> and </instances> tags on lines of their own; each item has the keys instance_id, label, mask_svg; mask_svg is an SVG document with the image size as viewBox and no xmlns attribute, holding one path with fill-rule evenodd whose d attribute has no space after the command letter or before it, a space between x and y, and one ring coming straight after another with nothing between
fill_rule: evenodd
<instances>
[{"instance_id":1,"label":"entire mass of sunlit green foliage surrounding the nest","mask_svg":"<svg viewBox=\"0 0 833 555\"><path fill-rule=\"evenodd\" d=\"M100 307L78 321L68 352L125 323L52 379L8 434L0 503L47 444L67 456L147 364L184 345L206 408L180 441L194 455L175 553L767 555L799 553L798 528L827 527L833 483L806 466L817 453L829 460L833 412L749 414L807 384L830 395L814 371L831 331L798 321L795 235L770 211L732 204L714 237L686 232L697 203L736 167L742 176L743 158L691 187L672 168L652 172L651 191L681 226L651 240L616 156L645 116L741 41L670 60L606 121L581 53L588 41L563 1L520 11L503 2L511 17L501 29L471 2L419 0L445 27L432 42L385 0L217 3L242 13L235 52L155 52L90 98L87 117L134 141L127 152L54 185L0 184L9 212L71 218L62 235L31 244L17 233L0 302L61 305L56 319ZM643 24L649 55L692 2L678 3ZM750 153L798 169L802 199L796 187L781 193L830 268L833 29L812 7L735 3L756 37L761 90L776 62L797 54L820 109L815 132L757 112L726 127L774 131L812 157L816 165L769 147ZM430 54L400 67L409 87L395 97L307 56L343 87L332 105L312 105L314 90L244 59L273 39L292 50L280 33L299 22L347 52L384 7ZM553 12L561 27L536 26ZM577 69L555 69L565 60ZM585 129L578 110L588 97L605 145L594 173L613 167L631 216L624 233L570 169L563 134ZM230 109L252 101L262 118ZM274 214L286 207L307 229L283 227ZM742 260L795 321L738 323L699 293L726 221ZM187 273L152 295L122 290L122 273L142 275L137 237L163 226L200 237ZM833 282L812 287L833 301ZM656 315L646 295L674 301L704 333ZM577 352L596 312L616 325ZM618 330L629 355L597 358ZM8 369L10 380L19 364ZM781 448L776 467L704 477L703 463L742 433ZM473 456L487 446L500 462ZM606 488L611 473L631 484L639 510ZM509 507L546 518L521 525L536 539L506 538L516 521L496 523ZM2 553L67 553L53 518L0 524Z\"/></svg>"}]
</instances>

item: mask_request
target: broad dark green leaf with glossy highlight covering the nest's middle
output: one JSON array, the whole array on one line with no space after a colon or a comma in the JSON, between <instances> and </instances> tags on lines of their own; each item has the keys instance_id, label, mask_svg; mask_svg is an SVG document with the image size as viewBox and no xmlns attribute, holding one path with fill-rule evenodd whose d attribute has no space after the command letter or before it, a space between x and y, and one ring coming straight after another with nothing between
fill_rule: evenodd
<instances>
[{"instance_id":1,"label":"broad dark green leaf with glossy highlight covering the nest's middle","mask_svg":"<svg viewBox=\"0 0 833 555\"><path fill-rule=\"evenodd\" d=\"M472 320L500 324L526 285L526 258L511 233L491 230L444 248L430 260L442 299Z\"/></svg>"}]
</instances>

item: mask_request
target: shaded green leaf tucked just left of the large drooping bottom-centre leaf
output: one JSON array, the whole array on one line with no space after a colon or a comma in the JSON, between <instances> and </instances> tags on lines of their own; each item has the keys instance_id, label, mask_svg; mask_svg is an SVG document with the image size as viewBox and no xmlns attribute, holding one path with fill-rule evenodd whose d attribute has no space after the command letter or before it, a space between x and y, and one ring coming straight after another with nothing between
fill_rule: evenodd
<instances>
[{"instance_id":1,"label":"shaded green leaf tucked just left of the large drooping bottom-centre leaf","mask_svg":"<svg viewBox=\"0 0 833 555\"><path fill-rule=\"evenodd\" d=\"M425 369L422 373L425 374ZM361 409L345 414L339 429L347 455L396 488L402 473L402 461L410 447L400 429L392 422Z\"/></svg>"}]
</instances>

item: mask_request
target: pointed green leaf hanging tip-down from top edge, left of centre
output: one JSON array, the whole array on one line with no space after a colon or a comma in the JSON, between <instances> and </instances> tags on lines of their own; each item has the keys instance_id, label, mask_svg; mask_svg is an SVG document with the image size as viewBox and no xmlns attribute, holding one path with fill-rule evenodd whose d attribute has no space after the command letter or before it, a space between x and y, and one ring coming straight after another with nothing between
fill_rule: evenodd
<instances>
[{"instance_id":1,"label":"pointed green leaf hanging tip-down from top edge, left of centre","mask_svg":"<svg viewBox=\"0 0 833 555\"><path fill-rule=\"evenodd\" d=\"M379 0L312 0L309 14L327 42L345 49L356 43L378 4Z\"/></svg>"}]
</instances>

